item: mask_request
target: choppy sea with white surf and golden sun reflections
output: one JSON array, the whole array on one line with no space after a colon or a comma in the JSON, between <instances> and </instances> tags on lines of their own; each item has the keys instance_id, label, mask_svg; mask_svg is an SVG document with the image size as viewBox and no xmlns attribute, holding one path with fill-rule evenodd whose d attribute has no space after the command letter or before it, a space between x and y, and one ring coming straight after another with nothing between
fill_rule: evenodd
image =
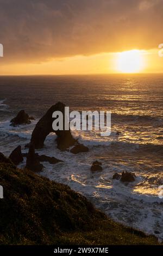
<instances>
[{"instance_id":1,"label":"choppy sea with white surf and golden sun reflections","mask_svg":"<svg viewBox=\"0 0 163 256\"><path fill-rule=\"evenodd\" d=\"M37 120L61 101L70 110L111 111L111 136L78 131L73 136L89 153L61 152L51 133L39 154L64 162L43 163L41 175L69 185L84 194L115 221L154 234L163 240L163 76L15 76L0 77L0 151L9 156L30 141ZM32 124L12 127L18 111L35 117ZM92 173L93 161L103 171ZM23 167L24 162L20 165ZM122 184L112 175L134 172L135 182ZM163 194L163 193L162 193Z\"/></svg>"}]
</instances>

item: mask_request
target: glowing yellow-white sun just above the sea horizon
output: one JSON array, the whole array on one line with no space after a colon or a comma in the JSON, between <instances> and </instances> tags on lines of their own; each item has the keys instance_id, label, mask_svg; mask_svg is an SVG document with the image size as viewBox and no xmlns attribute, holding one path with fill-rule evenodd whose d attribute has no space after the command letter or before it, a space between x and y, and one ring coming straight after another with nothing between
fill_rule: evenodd
<instances>
[{"instance_id":1,"label":"glowing yellow-white sun just above the sea horizon","mask_svg":"<svg viewBox=\"0 0 163 256\"><path fill-rule=\"evenodd\" d=\"M122 73L137 73L143 69L143 56L140 50L131 50L117 54L117 70Z\"/></svg>"}]
</instances>

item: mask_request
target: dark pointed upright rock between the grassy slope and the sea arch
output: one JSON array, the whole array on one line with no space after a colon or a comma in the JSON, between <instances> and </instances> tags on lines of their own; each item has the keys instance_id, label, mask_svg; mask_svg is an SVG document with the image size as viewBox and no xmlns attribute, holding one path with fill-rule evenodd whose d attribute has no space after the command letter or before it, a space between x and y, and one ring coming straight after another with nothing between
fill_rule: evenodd
<instances>
[{"instance_id":1,"label":"dark pointed upright rock between the grassy slope and the sea arch","mask_svg":"<svg viewBox=\"0 0 163 256\"><path fill-rule=\"evenodd\" d=\"M29 151L27 154L26 168L35 172L41 172L43 168L43 165L39 162L39 159L35 154L35 147L33 143L30 143Z\"/></svg>"}]
</instances>

